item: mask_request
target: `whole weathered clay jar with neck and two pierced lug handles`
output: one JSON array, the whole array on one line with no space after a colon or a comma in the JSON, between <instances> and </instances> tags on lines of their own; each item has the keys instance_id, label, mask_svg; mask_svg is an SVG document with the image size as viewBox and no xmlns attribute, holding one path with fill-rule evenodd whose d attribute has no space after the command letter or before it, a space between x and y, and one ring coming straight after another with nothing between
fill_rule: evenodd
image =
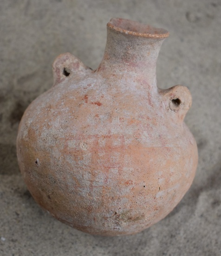
<instances>
[{"instance_id":1,"label":"whole weathered clay jar with neck and two pierced lug handles","mask_svg":"<svg viewBox=\"0 0 221 256\"><path fill-rule=\"evenodd\" d=\"M189 189L198 160L183 122L191 95L181 85L156 87L168 35L110 20L97 70L59 55L53 87L26 109L20 170L35 201L61 222L90 234L133 234L168 215Z\"/></svg>"}]
</instances>

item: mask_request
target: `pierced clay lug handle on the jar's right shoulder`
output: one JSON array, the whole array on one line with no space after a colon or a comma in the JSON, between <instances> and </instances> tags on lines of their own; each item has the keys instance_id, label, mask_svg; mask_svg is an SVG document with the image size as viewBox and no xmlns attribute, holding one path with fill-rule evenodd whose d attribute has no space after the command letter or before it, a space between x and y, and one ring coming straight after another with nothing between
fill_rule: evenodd
<instances>
[{"instance_id":1,"label":"pierced clay lug handle on the jar's right shoulder","mask_svg":"<svg viewBox=\"0 0 221 256\"><path fill-rule=\"evenodd\" d=\"M192 96L187 87L176 85L166 90L160 90L163 104L168 112L174 113L182 122L192 105Z\"/></svg>"}]
</instances>

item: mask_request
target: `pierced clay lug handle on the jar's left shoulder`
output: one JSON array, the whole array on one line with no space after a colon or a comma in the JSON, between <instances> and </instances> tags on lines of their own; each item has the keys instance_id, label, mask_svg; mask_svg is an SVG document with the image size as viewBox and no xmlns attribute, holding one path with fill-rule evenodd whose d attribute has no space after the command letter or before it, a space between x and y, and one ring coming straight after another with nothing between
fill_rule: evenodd
<instances>
[{"instance_id":1,"label":"pierced clay lug handle on the jar's left shoulder","mask_svg":"<svg viewBox=\"0 0 221 256\"><path fill-rule=\"evenodd\" d=\"M86 67L77 57L70 53L60 54L52 64L54 86L67 77L84 76L89 67Z\"/></svg>"}]
</instances>

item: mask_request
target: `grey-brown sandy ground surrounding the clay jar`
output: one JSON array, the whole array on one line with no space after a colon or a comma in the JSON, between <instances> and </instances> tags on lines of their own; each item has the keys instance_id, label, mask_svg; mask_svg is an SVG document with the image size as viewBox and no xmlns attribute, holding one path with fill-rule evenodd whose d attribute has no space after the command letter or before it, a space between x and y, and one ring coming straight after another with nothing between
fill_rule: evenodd
<instances>
[{"instance_id":1,"label":"grey-brown sandy ground surrounding the clay jar","mask_svg":"<svg viewBox=\"0 0 221 256\"><path fill-rule=\"evenodd\" d=\"M0 1L0 256L221 255L221 0ZM112 17L163 27L161 88L186 85L185 118L199 149L195 180L161 222L134 236L97 237L33 201L16 160L20 118L52 86L52 62L71 52L96 68Z\"/></svg>"}]
</instances>

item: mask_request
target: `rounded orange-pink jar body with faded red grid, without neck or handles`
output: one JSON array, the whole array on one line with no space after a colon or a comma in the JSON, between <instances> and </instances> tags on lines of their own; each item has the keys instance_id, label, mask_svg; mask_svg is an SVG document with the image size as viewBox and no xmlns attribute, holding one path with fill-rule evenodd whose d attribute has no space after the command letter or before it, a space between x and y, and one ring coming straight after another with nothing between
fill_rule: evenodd
<instances>
[{"instance_id":1,"label":"rounded orange-pink jar body with faded red grid, without neck or handles","mask_svg":"<svg viewBox=\"0 0 221 256\"><path fill-rule=\"evenodd\" d=\"M52 216L91 234L149 227L192 183L193 136L169 118L158 93L105 84L96 73L68 79L22 118L18 158L28 189Z\"/></svg>"}]
</instances>

